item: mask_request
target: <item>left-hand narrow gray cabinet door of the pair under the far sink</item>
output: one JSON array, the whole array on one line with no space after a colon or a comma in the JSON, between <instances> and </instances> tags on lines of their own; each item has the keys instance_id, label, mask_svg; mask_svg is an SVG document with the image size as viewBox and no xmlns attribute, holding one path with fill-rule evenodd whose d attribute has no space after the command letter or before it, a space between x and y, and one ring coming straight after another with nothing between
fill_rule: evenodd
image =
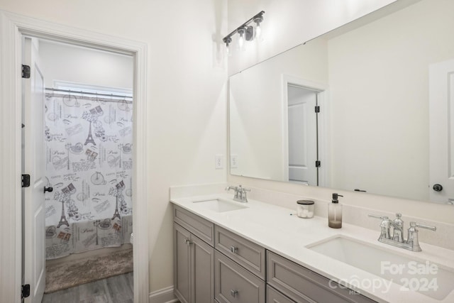
<instances>
[{"instance_id":1,"label":"left-hand narrow gray cabinet door of the pair under the far sink","mask_svg":"<svg viewBox=\"0 0 454 303\"><path fill-rule=\"evenodd\" d=\"M174 287L182 303L189 303L191 295L190 238L189 231L174 224Z\"/></svg>"}]
</instances>

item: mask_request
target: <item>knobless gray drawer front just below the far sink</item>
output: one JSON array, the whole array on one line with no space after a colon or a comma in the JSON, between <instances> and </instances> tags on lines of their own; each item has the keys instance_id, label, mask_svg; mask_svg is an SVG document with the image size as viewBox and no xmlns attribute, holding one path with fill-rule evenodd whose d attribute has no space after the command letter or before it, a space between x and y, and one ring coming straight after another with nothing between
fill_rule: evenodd
<instances>
[{"instance_id":1,"label":"knobless gray drawer front just below the far sink","mask_svg":"<svg viewBox=\"0 0 454 303\"><path fill-rule=\"evenodd\" d=\"M214 224L210 221L179 206L174 206L173 220L206 243L214 245Z\"/></svg>"}]
</instances>

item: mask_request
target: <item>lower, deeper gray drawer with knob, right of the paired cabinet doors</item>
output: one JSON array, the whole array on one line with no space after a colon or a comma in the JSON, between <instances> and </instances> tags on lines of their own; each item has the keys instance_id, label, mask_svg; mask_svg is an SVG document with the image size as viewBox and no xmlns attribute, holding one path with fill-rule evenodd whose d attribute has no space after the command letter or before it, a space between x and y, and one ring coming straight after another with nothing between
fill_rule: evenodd
<instances>
[{"instance_id":1,"label":"lower, deeper gray drawer with knob, right of the paired cabinet doors","mask_svg":"<svg viewBox=\"0 0 454 303\"><path fill-rule=\"evenodd\" d=\"M265 303L265 282L217 250L214 297L219 303Z\"/></svg>"}]
</instances>

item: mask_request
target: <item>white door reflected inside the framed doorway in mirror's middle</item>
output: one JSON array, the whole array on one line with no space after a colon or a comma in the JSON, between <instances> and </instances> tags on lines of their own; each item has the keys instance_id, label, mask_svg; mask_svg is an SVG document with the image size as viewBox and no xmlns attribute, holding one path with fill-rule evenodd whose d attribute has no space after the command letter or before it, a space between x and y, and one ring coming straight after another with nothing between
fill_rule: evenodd
<instances>
[{"instance_id":1,"label":"white door reflected inside the framed doorway in mirror's middle","mask_svg":"<svg viewBox=\"0 0 454 303\"><path fill-rule=\"evenodd\" d=\"M317 186L317 92L288 86L289 181Z\"/></svg>"}]
</instances>

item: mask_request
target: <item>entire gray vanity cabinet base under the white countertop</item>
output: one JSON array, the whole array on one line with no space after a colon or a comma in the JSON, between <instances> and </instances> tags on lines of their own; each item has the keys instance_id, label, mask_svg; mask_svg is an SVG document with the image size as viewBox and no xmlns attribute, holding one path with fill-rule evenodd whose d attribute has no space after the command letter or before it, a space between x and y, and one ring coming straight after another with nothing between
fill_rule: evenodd
<instances>
[{"instance_id":1,"label":"entire gray vanity cabinet base under the white countertop","mask_svg":"<svg viewBox=\"0 0 454 303\"><path fill-rule=\"evenodd\" d=\"M179 206L174 248L182 303L375 302Z\"/></svg>"}]
</instances>

